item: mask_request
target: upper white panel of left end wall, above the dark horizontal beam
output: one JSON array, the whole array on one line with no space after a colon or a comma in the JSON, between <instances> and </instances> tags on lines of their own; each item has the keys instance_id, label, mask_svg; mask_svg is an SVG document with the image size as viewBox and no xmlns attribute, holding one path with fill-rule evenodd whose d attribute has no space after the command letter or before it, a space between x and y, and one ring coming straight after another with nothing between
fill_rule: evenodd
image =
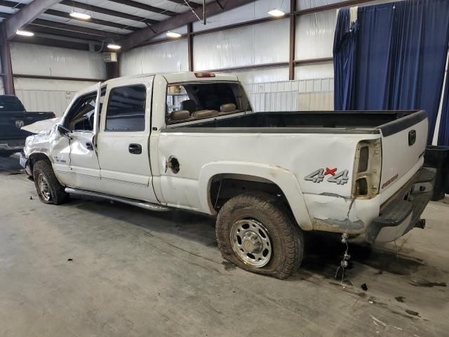
<instances>
[{"instance_id":1,"label":"upper white panel of left end wall, above the dark horizontal beam","mask_svg":"<svg viewBox=\"0 0 449 337\"><path fill-rule=\"evenodd\" d=\"M105 79L102 53L74 49L11 43L13 73Z\"/></svg>"}]
</instances>

